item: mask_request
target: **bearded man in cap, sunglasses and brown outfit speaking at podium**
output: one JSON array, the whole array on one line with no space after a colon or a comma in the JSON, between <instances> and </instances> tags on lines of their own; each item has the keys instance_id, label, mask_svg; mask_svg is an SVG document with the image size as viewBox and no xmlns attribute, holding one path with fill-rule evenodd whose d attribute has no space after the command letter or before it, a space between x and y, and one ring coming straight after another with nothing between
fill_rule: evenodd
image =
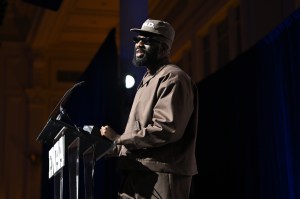
<instances>
[{"instance_id":1,"label":"bearded man in cap, sunglasses and brown outfit speaking at podium","mask_svg":"<svg viewBox=\"0 0 300 199\"><path fill-rule=\"evenodd\" d=\"M171 64L175 36L164 21L148 19L133 28L133 63L145 73L122 135L102 126L101 135L114 141L124 182L120 198L189 198L197 174L197 90L190 77Z\"/></svg>"}]
</instances>

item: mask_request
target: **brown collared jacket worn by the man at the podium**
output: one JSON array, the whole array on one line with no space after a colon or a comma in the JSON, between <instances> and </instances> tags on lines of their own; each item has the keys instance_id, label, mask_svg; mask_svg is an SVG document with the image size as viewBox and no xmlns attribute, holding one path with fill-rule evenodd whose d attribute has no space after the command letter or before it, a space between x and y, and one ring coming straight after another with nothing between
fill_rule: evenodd
<instances>
[{"instance_id":1,"label":"brown collared jacket worn by the man at the podium","mask_svg":"<svg viewBox=\"0 0 300 199\"><path fill-rule=\"evenodd\" d=\"M197 97L195 84L178 66L146 73L117 141L121 168L197 174Z\"/></svg>"}]
</instances>

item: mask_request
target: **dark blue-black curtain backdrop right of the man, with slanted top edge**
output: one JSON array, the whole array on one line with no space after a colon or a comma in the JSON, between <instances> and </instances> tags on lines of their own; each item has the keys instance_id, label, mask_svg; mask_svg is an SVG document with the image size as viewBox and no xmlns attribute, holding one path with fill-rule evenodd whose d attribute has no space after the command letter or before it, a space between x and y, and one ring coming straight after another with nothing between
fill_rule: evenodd
<instances>
[{"instance_id":1,"label":"dark blue-black curtain backdrop right of the man, with slanted top edge","mask_svg":"<svg viewBox=\"0 0 300 199\"><path fill-rule=\"evenodd\" d=\"M190 198L300 198L300 10L198 83Z\"/></svg>"}]
</instances>

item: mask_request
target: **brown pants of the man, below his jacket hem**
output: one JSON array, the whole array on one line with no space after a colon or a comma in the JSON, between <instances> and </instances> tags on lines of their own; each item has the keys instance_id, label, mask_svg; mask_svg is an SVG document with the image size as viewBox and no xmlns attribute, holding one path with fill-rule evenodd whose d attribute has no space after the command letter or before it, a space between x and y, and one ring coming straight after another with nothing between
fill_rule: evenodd
<instances>
[{"instance_id":1,"label":"brown pants of the man, below his jacket hem","mask_svg":"<svg viewBox=\"0 0 300 199\"><path fill-rule=\"evenodd\" d=\"M120 199L188 199L192 176L130 171L126 174Z\"/></svg>"}]
</instances>

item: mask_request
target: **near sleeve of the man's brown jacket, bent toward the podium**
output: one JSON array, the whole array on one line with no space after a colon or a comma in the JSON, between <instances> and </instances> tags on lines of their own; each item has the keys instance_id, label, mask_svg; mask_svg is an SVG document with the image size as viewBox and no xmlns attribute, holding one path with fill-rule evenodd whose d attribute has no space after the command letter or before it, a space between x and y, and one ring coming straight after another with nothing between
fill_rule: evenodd
<instances>
[{"instance_id":1,"label":"near sleeve of the man's brown jacket, bent toward the podium","mask_svg":"<svg viewBox=\"0 0 300 199\"><path fill-rule=\"evenodd\" d=\"M170 77L161 82L156 95L151 122L137 132L121 135L117 144L128 149L153 148L183 136L194 109L191 81Z\"/></svg>"}]
</instances>

